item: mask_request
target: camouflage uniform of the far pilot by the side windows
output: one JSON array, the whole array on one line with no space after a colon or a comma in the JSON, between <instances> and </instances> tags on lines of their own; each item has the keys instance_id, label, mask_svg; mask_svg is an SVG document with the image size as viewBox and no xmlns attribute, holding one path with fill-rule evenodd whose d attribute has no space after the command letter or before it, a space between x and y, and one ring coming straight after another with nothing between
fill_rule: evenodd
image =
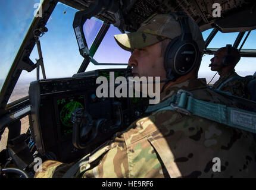
<instances>
[{"instance_id":1,"label":"camouflage uniform of the far pilot by the side windows","mask_svg":"<svg viewBox=\"0 0 256 190\"><path fill-rule=\"evenodd\" d=\"M222 83L224 83L224 81L228 80L231 77L237 77L237 76L239 75L236 74L235 69L233 69L228 74L219 78L219 80L216 81L216 83L214 83L213 88L217 89L218 87L220 87ZM234 79L224 84L219 90L227 91L235 96L239 96L245 99L251 99L251 96L247 90L247 85L248 85L248 81L246 80Z\"/></svg>"}]
</instances>

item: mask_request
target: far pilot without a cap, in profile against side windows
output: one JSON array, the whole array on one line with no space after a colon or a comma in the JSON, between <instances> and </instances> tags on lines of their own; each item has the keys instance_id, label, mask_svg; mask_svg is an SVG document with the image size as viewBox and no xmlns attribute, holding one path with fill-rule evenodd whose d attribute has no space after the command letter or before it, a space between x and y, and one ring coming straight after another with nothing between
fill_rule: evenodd
<instances>
[{"instance_id":1,"label":"far pilot without a cap, in profile against side windows","mask_svg":"<svg viewBox=\"0 0 256 190\"><path fill-rule=\"evenodd\" d=\"M214 53L209 66L211 66L211 71L218 72L220 78L214 83L213 88L250 99L251 97L247 90L248 81L235 72L235 66L238 64L240 58L241 56L238 50L231 45L221 47Z\"/></svg>"}]
</instances>

